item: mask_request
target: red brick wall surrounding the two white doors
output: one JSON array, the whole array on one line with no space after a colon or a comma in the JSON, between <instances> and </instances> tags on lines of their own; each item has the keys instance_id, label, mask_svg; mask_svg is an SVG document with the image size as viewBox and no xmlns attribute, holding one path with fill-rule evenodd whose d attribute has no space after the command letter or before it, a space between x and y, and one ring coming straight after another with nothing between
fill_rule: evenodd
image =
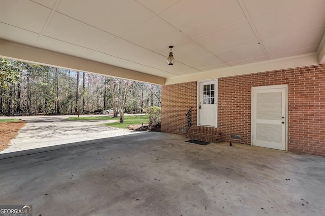
<instances>
[{"instance_id":1,"label":"red brick wall surrounding the two white doors","mask_svg":"<svg viewBox=\"0 0 325 216\"><path fill-rule=\"evenodd\" d=\"M325 65L219 78L218 131L222 140L231 141L230 134L238 134L239 143L250 144L251 88L277 84L289 86L288 150L325 156ZM179 110L183 119L176 120L165 110L176 102L175 94L181 95L176 101L177 107L183 107ZM197 106L197 82L166 85L161 97L161 129L179 133L179 127L186 127L188 108ZM192 116L196 117L196 109Z\"/></svg>"}]
</instances>

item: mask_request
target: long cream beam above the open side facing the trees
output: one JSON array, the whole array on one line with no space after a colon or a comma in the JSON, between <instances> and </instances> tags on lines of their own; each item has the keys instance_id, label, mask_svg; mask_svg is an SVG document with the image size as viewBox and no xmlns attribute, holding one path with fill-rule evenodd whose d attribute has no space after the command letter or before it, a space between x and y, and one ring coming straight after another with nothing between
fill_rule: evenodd
<instances>
[{"instance_id":1,"label":"long cream beam above the open side facing the trees","mask_svg":"<svg viewBox=\"0 0 325 216\"><path fill-rule=\"evenodd\" d=\"M166 78L0 39L0 56L75 71L164 85Z\"/></svg>"}]
</instances>

